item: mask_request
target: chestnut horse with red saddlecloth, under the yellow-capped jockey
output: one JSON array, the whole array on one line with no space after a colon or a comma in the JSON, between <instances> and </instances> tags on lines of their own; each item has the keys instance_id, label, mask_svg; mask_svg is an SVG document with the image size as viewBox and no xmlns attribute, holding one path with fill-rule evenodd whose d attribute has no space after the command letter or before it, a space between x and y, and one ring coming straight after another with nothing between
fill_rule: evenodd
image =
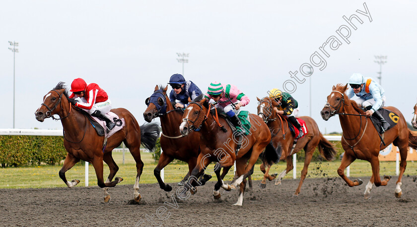
<instances>
[{"instance_id":1,"label":"chestnut horse with red saddlecloth, under the yellow-capped jockey","mask_svg":"<svg viewBox=\"0 0 417 227\"><path fill-rule=\"evenodd\" d=\"M298 139L294 145L294 136L289 132L288 129L288 120L286 117L277 114L273 110L274 107L278 107L278 103L271 99L270 97L265 97L263 99L258 99L258 115L263 118L267 123L268 127L271 130L272 134L272 145L274 147L282 146L282 155L280 160L286 160L287 167L283 170L276 179L276 185L281 183L281 179L293 169L292 165L292 155L304 149L305 160L304 167L301 171L300 182L298 187L294 192L294 195L297 196L300 193L301 185L304 182L305 176L307 175L308 165L310 165L311 158L313 153L318 146L320 154L328 161L334 160L336 156L336 149L332 143L323 137L320 133L316 121L309 116L301 116L299 118L305 121L305 124L308 129L308 133L302 138ZM273 180L277 173L269 175L269 169L271 165L268 165L267 171L265 170L264 164L261 164L261 170L265 173L264 179L262 180L260 186L261 188L266 187L266 179Z\"/></svg>"}]
</instances>

